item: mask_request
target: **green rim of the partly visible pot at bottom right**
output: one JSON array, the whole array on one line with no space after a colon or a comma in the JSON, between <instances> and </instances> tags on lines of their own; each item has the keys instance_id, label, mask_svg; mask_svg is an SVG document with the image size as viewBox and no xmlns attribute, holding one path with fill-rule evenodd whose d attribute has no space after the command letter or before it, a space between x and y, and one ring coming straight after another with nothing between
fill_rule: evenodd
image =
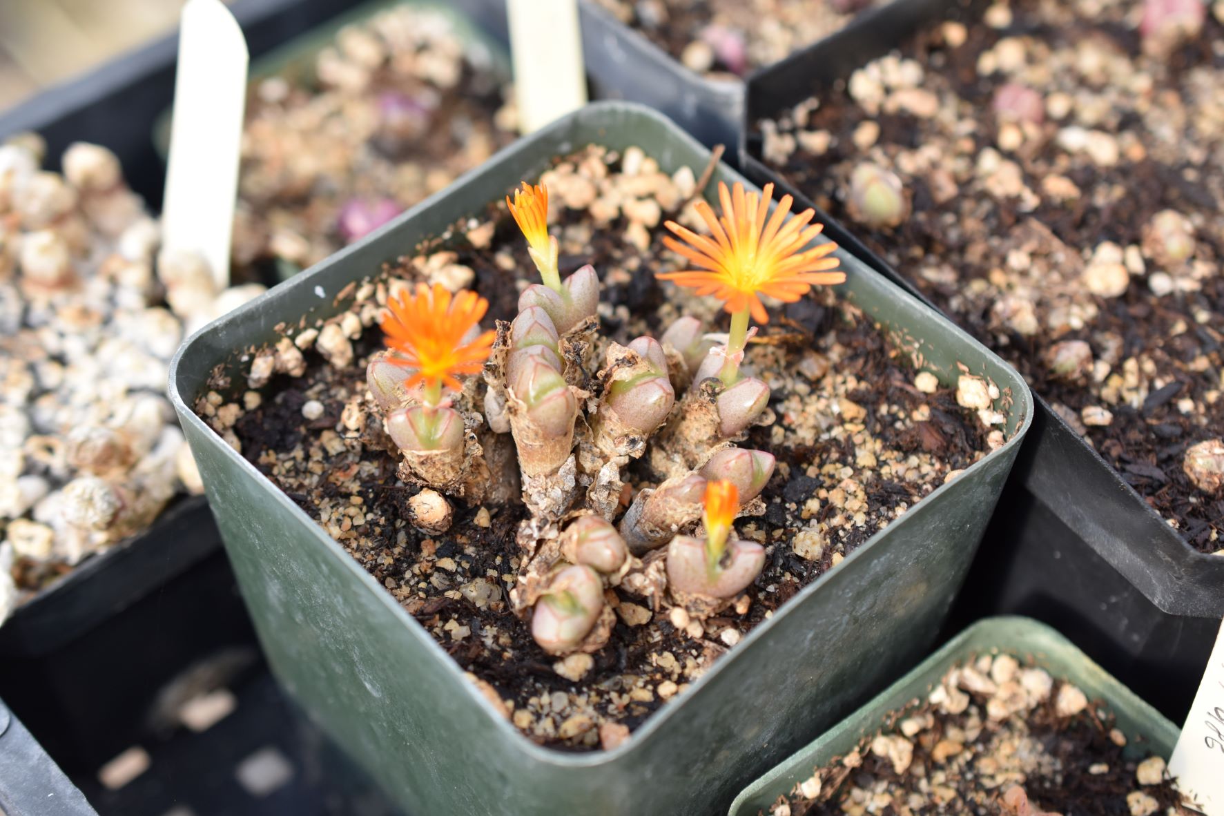
<instances>
[{"instance_id":1,"label":"green rim of the partly visible pot at bottom right","mask_svg":"<svg viewBox=\"0 0 1224 816\"><path fill-rule=\"evenodd\" d=\"M1055 679L1080 686L1088 700L1103 702L1127 735L1127 751L1136 749L1136 735L1143 745L1168 759L1177 741L1179 728L1138 695L1097 666L1087 655L1055 629L1031 618L985 618L953 637L903 678L876 695L870 702L841 721L813 743L796 751L736 798L728 816L756 816L767 810L778 795L812 776L814 768L834 756L853 750L864 736L886 724L890 713L908 707L927 695L956 663L978 655L1009 653L1032 657Z\"/></svg>"}]
</instances>

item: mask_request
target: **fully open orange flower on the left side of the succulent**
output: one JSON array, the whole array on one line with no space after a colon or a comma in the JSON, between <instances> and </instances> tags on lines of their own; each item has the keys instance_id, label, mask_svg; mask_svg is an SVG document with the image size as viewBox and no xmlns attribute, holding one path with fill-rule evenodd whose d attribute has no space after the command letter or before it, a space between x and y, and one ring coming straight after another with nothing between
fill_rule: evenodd
<instances>
[{"instance_id":1,"label":"fully open orange flower on the left side of the succulent","mask_svg":"<svg viewBox=\"0 0 1224 816\"><path fill-rule=\"evenodd\" d=\"M417 284L415 292L389 300L387 308L390 313L382 330L387 347L398 352L387 361L416 369L404 382L405 389L424 382L426 387L441 383L459 390L463 384L455 374L477 374L488 360L496 333L485 332L464 343L488 311L488 301L476 292L465 290L452 297L441 284L433 289Z\"/></svg>"}]
</instances>

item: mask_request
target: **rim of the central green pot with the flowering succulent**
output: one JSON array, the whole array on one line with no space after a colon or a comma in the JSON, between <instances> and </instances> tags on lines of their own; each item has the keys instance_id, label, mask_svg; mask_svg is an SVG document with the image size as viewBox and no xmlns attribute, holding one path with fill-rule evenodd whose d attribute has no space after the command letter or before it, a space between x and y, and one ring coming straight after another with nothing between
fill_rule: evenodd
<instances>
[{"instance_id":1,"label":"rim of the central green pot with the flowering succulent","mask_svg":"<svg viewBox=\"0 0 1224 816\"><path fill-rule=\"evenodd\" d=\"M629 125L630 122L632 126ZM482 712L482 716L486 719L485 728L496 732L501 739L513 741L518 746L518 750L528 755L534 762L559 768L590 768L602 766L614 762L622 756L644 750L651 736L665 729L668 722L677 716L677 712L682 711L685 703L696 695L696 691L710 684L722 670L726 670L727 664L732 661L728 658L715 662L715 664L705 674L703 674L700 679L693 683L693 688L688 694L683 695L674 702L663 706L662 710L652 713L647 721L634 732L633 739L612 750L569 754L537 745L524 736L521 732L519 732L513 724L510 724L509 721L502 717L493 708L493 705L480 694L476 685L464 678L464 670L459 663L457 663L442 648L442 646L430 632L425 630L420 623L404 610L399 602L395 601L395 598L387 592L381 584L378 584L373 575L367 573L334 538L332 538L332 536L329 536L313 519L306 515L306 513L297 504L295 504L293 499L277 488L275 484L263 476L251 462L248 462L233 448L220 442L220 438L217 437L217 434L195 414L191 405L207 388L209 377L215 369L218 369L218 367L223 369L233 367L235 362L237 362L237 357L242 354L242 350L248 349L252 345L274 340L278 336L278 327L284 327L289 322L296 322L299 317L302 319L312 319L323 314L339 312L340 301L338 299L329 299L329 292L338 292L350 283L360 278L368 276L370 274L377 272L382 262L394 257L394 253L392 253L392 256L379 254L386 252L382 248L383 246L395 246L403 251L404 247L414 246L420 239L430 235L443 234L448 228L453 226L455 221L460 220L465 215L472 214L471 208L455 208L453 206L449 208L437 207L436 204L439 202L443 202L448 197L454 196L458 191L471 186L493 185L494 180L488 177L490 172L499 174L499 176L496 177L498 192L492 196L492 199L496 199L499 193L504 192L501 188L503 185L506 190L509 190L519 181L520 177L530 177L546 169L548 159L557 155L557 150L559 150L561 154L564 154L564 152L578 149L579 147L592 141L591 138L585 138L581 139L580 144L575 143L572 141L575 130L591 128L596 132L603 132L610 130L613 125L623 126L627 131L632 131L638 135L643 133L644 130L654 128L656 132L661 131L665 133L667 138L676 139L682 143L687 152L706 158L709 157L709 150L701 147L693 137L684 133L661 114L644 105L627 102L592 103L581 110L542 128L531 138L519 139L514 144L501 150L493 159L486 163L486 165L464 174L448 190L435 193L426 201L400 214L395 220L371 232L361 241L341 250L327 261L316 264L296 278L278 285L253 301L247 302L234 312L198 330L186 343L184 343L182 346L180 346L170 363L171 400L184 423L190 425L196 433L204 434L206 438L214 439L218 443L218 450L220 450L223 456L225 456L233 465L245 471L248 477L261 482L267 488L269 500L279 503L280 509L297 516L307 526L307 529L311 530L311 533L316 537L316 540L322 543L337 565L353 574L356 580L359 580L368 588L370 592L375 593L375 596L379 598L379 603L384 604L390 610L390 614L403 621L408 632L417 642L417 645L428 651L441 662L442 666L446 667L444 670L450 675L453 685L461 689L459 694L464 695L466 703ZM541 160L536 157L536 153L540 152L537 144L558 147L557 149L552 149L550 147L548 155ZM625 144L625 147L628 147L628 144ZM655 155L654 158L656 158L660 164L666 168L673 157L672 154L661 154ZM745 186L753 187L752 182L725 165L714 174L710 184L714 185L714 182L718 180L725 180L727 182L741 181L745 184ZM707 187L707 190L710 188L711 187ZM488 202L482 202L481 207L487 203ZM403 236L404 240L383 240L389 239L401 228L408 228L409 225L411 228L411 232L410 235ZM994 355L994 352L978 344L960 328L952 325L950 321L941 317L925 303L896 287L894 284L887 281L886 278L873 270L863 262L841 251L838 251L837 254L842 261L842 267L846 269L848 275L854 279L857 285L868 286L875 290L884 289L887 290L890 295L895 292L896 297L889 299L887 306L879 310L880 312L884 312L884 314L878 314L876 319L887 323L890 322L890 318L896 318L896 322L898 323L918 321L938 325L942 338L953 339L962 349L971 347L973 352L982 358L983 366L989 368L990 377L995 379L1000 388L1010 390L1012 402L1010 406L1001 409L1007 412L1007 429L1011 434L1010 439L1007 439L1002 447L990 451L982 460L966 469L966 472L955 481L969 478L971 473L983 470L993 459L1002 459L1013 455L1015 449L1020 445L1024 433L1032 423L1033 414L1033 405L1028 389L1023 387L1023 380L1020 378L1020 374L1016 373L1016 371L1006 362ZM341 262L353 263L360 267L364 272L355 276L344 275L341 278L341 275L334 275L335 280L330 280L328 278L328 273L340 269L343 265ZM326 286L324 281L327 283ZM841 284L837 289L840 290L840 294L846 296L849 291L849 284ZM289 318L289 321L284 321L284 318L273 314L269 308L277 300L294 301L296 303L312 303L312 306L305 311L294 311L294 317ZM853 300L852 292L849 294L849 300ZM280 311L284 312L289 310L282 307ZM934 355L939 354L938 347L930 345L928 340L917 339L916 341L923 350L931 352L928 355L928 358L934 360ZM953 362L950 363L950 366L955 367L955 355L952 358ZM939 494L946 492L955 483L955 481L939 486L934 492L927 495L923 502L934 500ZM902 516L896 520L894 525L902 524L906 517L907 516ZM894 525L890 525L889 529ZM889 529L878 531L870 540L864 542L853 553L846 557L843 564L863 558L864 554L870 552L873 544L879 542L881 537L889 532ZM786 604L780 607L770 620L761 623L748 632L741 642L741 646L767 637L770 631L780 620L783 620L800 606L799 602L802 598L819 592L830 577L835 577L835 575L836 570L830 570L800 590Z\"/></svg>"}]
</instances>

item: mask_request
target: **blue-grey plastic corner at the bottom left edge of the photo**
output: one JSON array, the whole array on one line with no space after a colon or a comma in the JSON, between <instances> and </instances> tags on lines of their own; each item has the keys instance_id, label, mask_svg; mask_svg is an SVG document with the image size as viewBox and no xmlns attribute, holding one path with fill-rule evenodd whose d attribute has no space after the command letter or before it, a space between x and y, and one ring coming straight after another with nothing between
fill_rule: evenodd
<instances>
[{"instance_id":1,"label":"blue-grey plastic corner at the bottom left edge of the photo","mask_svg":"<svg viewBox=\"0 0 1224 816\"><path fill-rule=\"evenodd\" d=\"M89 803L0 701L0 814L97 816Z\"/></svg>"}]
</instances>

